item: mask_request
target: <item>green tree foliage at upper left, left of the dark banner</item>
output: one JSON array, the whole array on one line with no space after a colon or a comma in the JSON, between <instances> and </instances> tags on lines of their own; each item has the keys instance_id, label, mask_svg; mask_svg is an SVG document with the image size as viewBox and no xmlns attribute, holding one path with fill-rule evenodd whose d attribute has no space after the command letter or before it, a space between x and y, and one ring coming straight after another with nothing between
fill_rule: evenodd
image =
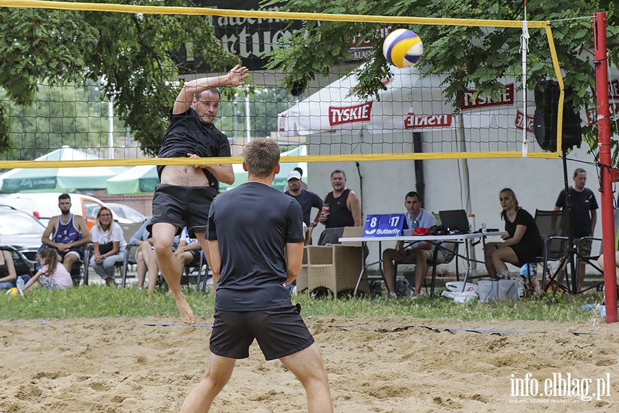
<instances>
[{"instance_id":1,"label":"green tree foliage at upper left, left of the dark banner","mask_svg":"<svg viewBox=\"0 0 619 413\"><path fill-rule=\"evenodd\" d=\"M132 4L194 6L191 0ZM224 55L210 20L197 16L3 8L0 33L0 87L10 100L31 104L43 79L50 85L80 87L87 81L100 82L103 99L113 99L120 120L151 155L159 151L178 93L175 56L184 43L193 43L196 59L208 61L214 71L227 71L238 63L234 56ZM7 112L8 102L1 101L0 114ZM2 116L3 152L10 147L7 131L8 118Z\"/></svg>"}]
</instances>

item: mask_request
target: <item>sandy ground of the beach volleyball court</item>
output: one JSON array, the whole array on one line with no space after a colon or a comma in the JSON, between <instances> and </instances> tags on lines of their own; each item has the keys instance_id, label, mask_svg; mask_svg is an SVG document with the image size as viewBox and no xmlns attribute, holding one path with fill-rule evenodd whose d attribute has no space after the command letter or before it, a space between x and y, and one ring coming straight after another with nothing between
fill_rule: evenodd
<instances>
[{"instance_id":1,"label":"sandy ground of the beach volleyball court","mask_svg":"<svg viewBox=\"0 0 619 413\"><path fill-rule=\"evenodd\" d=\"M147 325L177 321L0 321L0 412L178 412L204 373L210 327ZM336 412L619 411L619 326L601 319L306 322ZM250 352L211 411L306 411L292 373L265 362L255 343ZM514 379L540 394L514 394Z\"/></svg>"}]
</instances>

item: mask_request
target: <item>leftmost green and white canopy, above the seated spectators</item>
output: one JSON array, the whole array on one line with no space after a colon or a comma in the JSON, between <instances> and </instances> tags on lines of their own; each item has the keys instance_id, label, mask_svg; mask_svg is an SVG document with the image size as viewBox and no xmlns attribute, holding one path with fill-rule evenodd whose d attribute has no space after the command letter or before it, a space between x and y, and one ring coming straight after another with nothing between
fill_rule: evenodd
<instances>
[{"instance_id":1,"label":"leftmost green and white canopy, above the seated spectators","mask_svg":"<svg viewBox=\"0 0 619 413\"><path fill-rule=\"evenodd\" d=\"M36 158L34 162L91 159L99 158L84 151L63 146ZM73 192L105 189L109 178L126 169L126 167L16 168L0 175L0 191L3 193Z\"/></svg>"}]
</instances>

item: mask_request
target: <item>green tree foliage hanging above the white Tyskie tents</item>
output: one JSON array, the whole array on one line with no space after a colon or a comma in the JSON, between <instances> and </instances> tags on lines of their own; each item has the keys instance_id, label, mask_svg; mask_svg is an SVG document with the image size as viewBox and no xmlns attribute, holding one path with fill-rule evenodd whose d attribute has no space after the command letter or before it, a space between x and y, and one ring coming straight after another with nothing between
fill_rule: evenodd
<instances>
[{"instance_id":1,"label":"green tree foliage hanging above the white Tyskie tents","mask_svg":"<svg viewBox=\"0 0 619 413\"><path fill-rule=\"evenodd\" d=\"M608 48L613 61L619 61L619 16L611 1L576 0L530 2L526 19L552 21L552 33L559 64L564 72L567 89L576 109L595 107L591 87L594 76L594 30L591 16L607 10ZM523 20L521 2L461 0L417 0L385 2L366 0L290 0L283 11L382 16L428 17L453 19ZM373 47L373 62L359 73L362 82L360 96L376 96L384 89L381 80L389 74L382 56L382 34L378 28L387 25L370 23L332 23L305 21L304 30L285 39L285 47L270 53L270 67L285 74L283 85L288 89L307 85L318 75L324 75L332 65L348 57L349 39L359 36ZM460 94L474 85L481 96L496 96L503 90L497 81L501 77L520 78L521 29L478 28L452 25L393 25L390 30L405 27L415 31L424 41L424 70L445 74L445 98L459 109ZM545 31L529 29L528 85L532 87L546 78L556 78ZM614 128L614 125L613 125ZM597 131L585 128L585 139L595 146ZM617 153L617 152L615 152Z\"/></svg>"}]
</instances>

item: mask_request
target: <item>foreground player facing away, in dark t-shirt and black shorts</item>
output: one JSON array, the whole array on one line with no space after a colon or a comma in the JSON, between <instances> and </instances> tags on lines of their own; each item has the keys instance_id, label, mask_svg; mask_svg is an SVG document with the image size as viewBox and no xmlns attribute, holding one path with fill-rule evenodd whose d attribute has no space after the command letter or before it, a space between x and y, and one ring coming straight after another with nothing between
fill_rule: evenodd
<instances>
[{"instance_id":1,"label":"foreground player facing away, in dark t-shirt and black shorts","mask_svg":"<svg viewBox=\"0 0 619 413\"><path fill-rule=\"evenodd\" d=\"M279 359L301 381L309 412L333 412L318 346L284 286L301 272L303 229L298 202L271 187L279 153L273 140L252 140L243 160L248 182L211 204L215 320L206 374L187 396L182 413L208 412L236 359L249 357L254 339L266 360Z\"/></svg>"}]
</instances>

